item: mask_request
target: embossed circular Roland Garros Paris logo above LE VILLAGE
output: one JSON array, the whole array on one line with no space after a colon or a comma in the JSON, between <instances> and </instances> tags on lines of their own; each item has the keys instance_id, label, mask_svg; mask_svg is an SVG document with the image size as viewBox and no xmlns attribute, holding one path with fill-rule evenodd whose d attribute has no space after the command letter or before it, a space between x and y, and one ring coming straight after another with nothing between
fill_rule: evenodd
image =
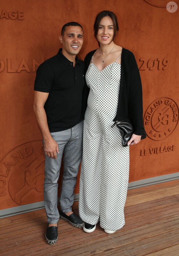
<instances>
[{"instance_id":1,"label":"embossed circular Roland Garros Paris logo above LE VILLAGE","mask_svg":"<svg viewBox=\"0 0 179 256\"><path fill-rule=\"evenodd\" d=\"M154 100L144 115L144 128L149 138L164 140L176 128L178 123L178 106L170 98Z\"/></svg>"}]
</instances>

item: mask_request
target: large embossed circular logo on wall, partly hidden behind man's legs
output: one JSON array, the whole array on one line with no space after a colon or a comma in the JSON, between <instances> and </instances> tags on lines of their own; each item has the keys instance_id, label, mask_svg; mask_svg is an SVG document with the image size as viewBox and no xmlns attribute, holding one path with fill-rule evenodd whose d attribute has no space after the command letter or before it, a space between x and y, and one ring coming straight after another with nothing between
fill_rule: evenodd
<instances>
[{"instance_id":1,"label":"large embossed circular logo on wall, partly hidden behind man's legs","mask_svg":"<svg viewBox=\"0 0 179 256\"><path fill-rule=\"evenodd\" d=\"M30 141L11 149L0 161L0 193L9 202L31 204L43 200L44 150L42 141ZM10 202L8 207L12 207Z\"/></svg>"}]
</instances>

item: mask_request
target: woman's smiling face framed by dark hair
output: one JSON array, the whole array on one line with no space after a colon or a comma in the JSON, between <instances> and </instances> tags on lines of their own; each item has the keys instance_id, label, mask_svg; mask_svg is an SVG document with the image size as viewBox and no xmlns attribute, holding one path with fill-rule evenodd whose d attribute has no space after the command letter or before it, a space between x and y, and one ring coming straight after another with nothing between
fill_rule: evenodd
<instances>
[{"instance_id":1,"label":"woman's smiling face framed by dark hair","mask_svg":"<svg viewBox=\"0 0 179 256\"><path fill-rule=\"evenodd\" d=\"M110 44L114 35L112 19L106 16L101 19L98 28L97 39L100 44Z\"/></svg>"}]
</instances>

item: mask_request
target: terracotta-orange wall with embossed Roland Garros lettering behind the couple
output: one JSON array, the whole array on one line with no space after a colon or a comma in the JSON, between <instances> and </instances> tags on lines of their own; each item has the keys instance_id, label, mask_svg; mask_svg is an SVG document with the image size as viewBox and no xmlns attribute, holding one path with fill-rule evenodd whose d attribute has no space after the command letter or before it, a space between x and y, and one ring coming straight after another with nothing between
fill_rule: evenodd
<instances>
[{"instance_id":1,"label":"terracotta-orange wall with embossed Roland Garros lettering behind the couple","mask_svg":"<svg viewBox=\"0 0 179 256\"><path fill-rule=\"evenodd\" d=\"M43 200L44 153L32 108L35 71L57 53L60 29L69 21L84 28L79 58L83 60L87 52L98 48L93 23L104 9L117 14L120 33L116 43L134 52L143 83L148 137L130 147L130 182L178 172L179 10L167 11L167 3L1 1L0 209Z\"/></svg>"}]
</instances>

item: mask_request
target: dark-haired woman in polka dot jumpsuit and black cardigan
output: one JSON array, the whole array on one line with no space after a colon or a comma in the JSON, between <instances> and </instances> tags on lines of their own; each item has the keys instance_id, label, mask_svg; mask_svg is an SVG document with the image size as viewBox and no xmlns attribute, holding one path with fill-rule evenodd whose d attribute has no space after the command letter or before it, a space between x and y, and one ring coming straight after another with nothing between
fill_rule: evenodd
<instances>
[{"instance_id":1,"label":"dark-haired woman in polka dot jumpsuit and black cardigan","mask_svg":"<svg viewBox=\"0 0 179 256\"><path fill-rule=\"evenodd\" d=\"M113 12L100 12L94 23L99 48L85 57L90 88L85 112L79 214L84 231L100 220L106 233L123 227L129 178L129 146L123 147L116 120L131 116L135 130L128 145L140 141L143 130L142 87L132 52L114 43L119 30Z\"/></svg>"}]
</instances>

